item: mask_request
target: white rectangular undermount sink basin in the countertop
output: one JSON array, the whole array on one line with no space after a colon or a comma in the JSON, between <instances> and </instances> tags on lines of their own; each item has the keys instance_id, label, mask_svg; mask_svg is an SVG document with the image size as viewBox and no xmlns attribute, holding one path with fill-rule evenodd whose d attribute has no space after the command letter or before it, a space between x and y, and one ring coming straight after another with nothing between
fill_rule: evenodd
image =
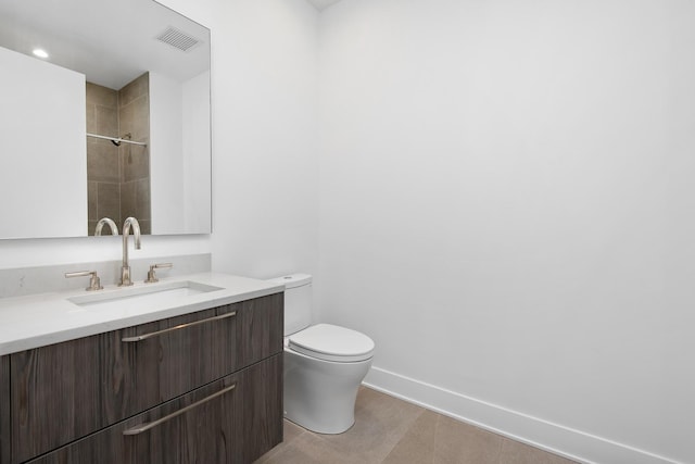
<instances>
[{"instance_id":1,"label":"white rectangular undermount sink basin in the countertop","mask_svg":"<svg viewBox=\"0 0 695 464\"><path fill-rule=\"evenodd\" d=\"M147 308L162 303L181 302L181 298L216 290L222 290L222 288L192 280L179 280L123 288L108 293L84 294L68 298L67 301L89 310Z\"/></svg>"}]
</instances>

